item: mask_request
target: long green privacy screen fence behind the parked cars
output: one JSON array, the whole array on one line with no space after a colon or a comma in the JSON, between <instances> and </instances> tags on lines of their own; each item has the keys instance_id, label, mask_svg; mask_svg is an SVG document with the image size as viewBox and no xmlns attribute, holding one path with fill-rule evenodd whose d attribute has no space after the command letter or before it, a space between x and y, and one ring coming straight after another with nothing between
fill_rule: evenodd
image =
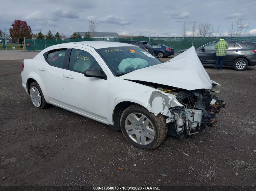
<instances>
[{"instance_id":1,"label":"long green privacy screen fence behind the parked cars","mask_svg":"<svg viewBox=\"0 0 256 191\"><path fill-rule=\"evenodd\" d=\"M134 38L66 38L66 39L25 39L26 51L43 50L49 46L80 41L108 41L142 40L149 44L163 44L174 48L175 53L191 46L198 48L206 43L225 38L225 40L250 41L256 43L256 37L134 37ZM28 44L27 44L28 43ZM27 46L28 45L28 46Z\"/></svg>"}]
</instances>

